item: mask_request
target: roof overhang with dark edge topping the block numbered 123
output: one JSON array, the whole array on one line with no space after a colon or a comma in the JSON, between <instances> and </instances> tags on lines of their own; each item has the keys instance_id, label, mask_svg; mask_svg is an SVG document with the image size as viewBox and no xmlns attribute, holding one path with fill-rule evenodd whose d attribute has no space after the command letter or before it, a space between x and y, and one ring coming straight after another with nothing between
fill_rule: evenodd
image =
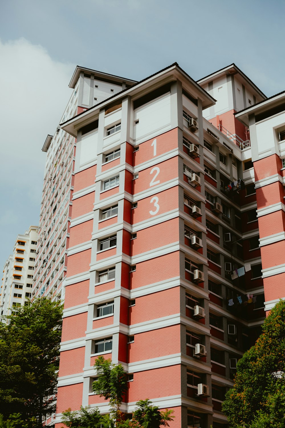
<instances>
[{"instance_id":1,"label":"roof overhang with dark edge topping the block numbered 123","mask_svg":"<svg viewBox=\"0 0 285 428\"><path fill-rule=\"evenodd\" d=\"M60 124L61 128L69 134L73 135L73 137L77 137L77 131L83 126L88 125L88 123L91 123L97 119L99 111L110 104L110 102L113 103L126 96L131 96L132 100L135 101L136 99L145 95L147 92L150 92L159 86L165 85L175 80L182 81L182 86L191 93L191 96L194 98L199 98L202 101L203 109L215 104L216 100L211 95L209 95L205 89L201 88L201 86L196 83L195 80L193 80L175 62L169 67L153 74L152 76L135 83L132 87L123 89L121 92L118 92L107 100L104 100L99 104L96 104L94 107L79 113L79 115L74 116L72 119Z\"/></svg>"}]
</instances>

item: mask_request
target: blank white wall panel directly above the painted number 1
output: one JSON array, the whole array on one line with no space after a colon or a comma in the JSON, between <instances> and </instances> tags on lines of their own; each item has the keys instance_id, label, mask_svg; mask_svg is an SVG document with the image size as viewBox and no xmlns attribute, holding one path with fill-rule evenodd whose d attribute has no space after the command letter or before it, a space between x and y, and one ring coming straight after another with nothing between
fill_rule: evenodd
<instances>
[{"instance_id":1,"label":"blank white wall panel directly above the painted number 1","mask_svg":"<svg viewBox=\"0 0 285 428\"><path fill-rule=\"evenodd\" d=\"M139 120L134 126L134 140L144 137L147 134L161 130L170 125L170 92L138 107L134 111L134 121Z\"/></svg>"}]
</instances>

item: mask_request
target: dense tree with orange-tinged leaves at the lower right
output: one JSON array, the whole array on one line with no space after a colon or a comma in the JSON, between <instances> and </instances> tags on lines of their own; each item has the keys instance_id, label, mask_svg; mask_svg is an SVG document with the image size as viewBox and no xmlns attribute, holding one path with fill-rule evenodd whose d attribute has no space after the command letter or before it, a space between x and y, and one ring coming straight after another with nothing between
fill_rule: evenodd
<instances>
[{"instance_id":1,"label":"dense tree with orange-tinged leaves at the lower right","mask_svg":"<svg viewBox=\"0 0 285 428\"><path fill-rule=\"evenodd\" d=\"M285 301L280 300L265 319L256 344L238 361L234 387L223 402L223 411L232 428L269 426L254 424L265 420L277 402L283 406L279 422L284 423L284 388L280 387L279 378L282 373L285 373ZM276 425L279 426L284 425Z\"/></svg>"}]
</instances>

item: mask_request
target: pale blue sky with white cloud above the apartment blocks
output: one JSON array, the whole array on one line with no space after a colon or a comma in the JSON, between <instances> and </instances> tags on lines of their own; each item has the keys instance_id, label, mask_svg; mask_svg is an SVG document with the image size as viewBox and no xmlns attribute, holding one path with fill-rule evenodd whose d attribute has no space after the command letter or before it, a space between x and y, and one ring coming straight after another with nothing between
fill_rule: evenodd
<instances>
[{"instance_id":1,"label":"pale blue sky with white cloud above the apartment blocks","mask_svg":"<svg viewBox=\"0 0 285 428\"><path fill-rule=\"evenodd\" d=\"M235 62L267 96L285 89L285 2L11 0L0 3L0 265L38 224L47 134L76 65L141 80L178 62L195 80Z\"/></svg>"}]
</instances>

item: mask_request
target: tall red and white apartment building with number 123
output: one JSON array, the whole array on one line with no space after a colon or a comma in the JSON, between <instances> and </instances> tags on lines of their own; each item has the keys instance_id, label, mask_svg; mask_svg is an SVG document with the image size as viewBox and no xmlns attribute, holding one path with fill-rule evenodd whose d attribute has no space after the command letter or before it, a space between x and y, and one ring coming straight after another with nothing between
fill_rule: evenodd
<instances>
[{"instance_id":1,"label":"tall red and white apartment building with number 123","mask_svg":"<svg viewBox=\"0 0 285 428\"><path fill-rule=\"evenodd\" d=\"M65 299L57 413L47 423L61 426L68 407L109 412L91 388L103 355L128 373L126 413L150 398L173 408L171 427L226 428L221 403L237 360L259 336L264 300L270 309L283 292L268 279L267 295L275 271L263 261L284 239L283 205L263 209L255 175L265 156L252 155L251 109L268 100L235 64L198 82L176 63L141 82L77 67L70 86L44 145L34 288ZM273 166L268 185L280 190ZM263 240L260 219L277 211L277 238Z\"/></svg>"}]
</instances>

